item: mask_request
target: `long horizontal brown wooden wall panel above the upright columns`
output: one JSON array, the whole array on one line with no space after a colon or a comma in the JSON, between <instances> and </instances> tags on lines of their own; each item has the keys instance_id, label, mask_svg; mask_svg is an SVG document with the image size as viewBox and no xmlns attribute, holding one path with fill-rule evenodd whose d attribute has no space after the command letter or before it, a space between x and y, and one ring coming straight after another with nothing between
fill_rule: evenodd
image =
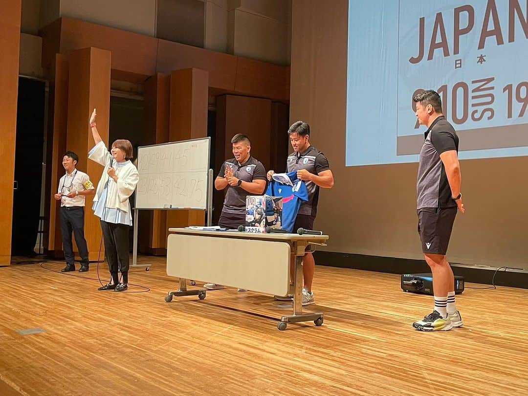
<instances>
[{"instance_id":1,"label":"long horizontal brown wooden wall panel above the upright columns","mask_svg":"<svg viewBox=\"0 0 528 396\"><path fill-rule=\"evenodd\" d=\"M86 47L112 52L112 78L134 83L156 72L196 68L209 72L219 94L289 100L289 68L63 17L41 29L43 66L55 52ZM59 41L59 44L57 43Z\"/></svg>"}]
</instances>

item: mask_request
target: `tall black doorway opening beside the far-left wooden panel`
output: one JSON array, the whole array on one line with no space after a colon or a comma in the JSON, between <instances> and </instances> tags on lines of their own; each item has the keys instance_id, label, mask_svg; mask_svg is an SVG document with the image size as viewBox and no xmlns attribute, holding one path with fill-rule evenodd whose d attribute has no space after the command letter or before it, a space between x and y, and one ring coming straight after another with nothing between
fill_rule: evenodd
<instances>
[{"instance_id":1,"label":"tall black doorway opening beside the far-left wooden panel","mask_svg":"<svg viewBox=\"0 0 528 396\"><path fill-rule=\"evenodd\" d=\"M39 230L46 83L18 79L12 256L35 256Z\"/></svg>"}]
</instances>

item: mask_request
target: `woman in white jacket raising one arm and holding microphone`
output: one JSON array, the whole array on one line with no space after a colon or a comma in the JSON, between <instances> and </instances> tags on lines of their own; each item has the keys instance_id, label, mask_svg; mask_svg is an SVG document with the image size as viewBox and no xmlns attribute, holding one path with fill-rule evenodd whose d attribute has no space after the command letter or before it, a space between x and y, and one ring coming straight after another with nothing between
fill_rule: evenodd
<instances>
[{"instance_id":1,"label":"woman in white jacket raising one arm and holding microphone","mask_svg":"<svg viewBox=\"0 0 528 396\"><path fill-rule=\"evenodd\" d=\"M98 290L123 291L128 288L129 244L128 233L132 225L132 213L128 198L134 192L139 173L133 163L132 144L129 140L118 139L112 143L110 153L102 141L96 126L96 109L90 117L95 146L88 158L105 167L93 197L92 210L101 219L105 241L106 259L110 281ZM137 221L137 219L136 219ZM121 271L121 279L118 277Z\"/></svg>"}]
</instances>

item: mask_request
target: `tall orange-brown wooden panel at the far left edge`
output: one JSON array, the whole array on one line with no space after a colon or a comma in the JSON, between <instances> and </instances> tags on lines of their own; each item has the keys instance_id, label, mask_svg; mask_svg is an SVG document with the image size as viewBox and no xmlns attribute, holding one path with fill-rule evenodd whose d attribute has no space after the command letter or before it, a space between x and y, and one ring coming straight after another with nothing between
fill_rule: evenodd
<instances>
[{"instance_id":1,"label":"tall orange-brown wooden panel at the far left edge","mask_svg":"<svg viewBox=\"0 0 528 396\"><path fill-rule=\"evenodd\" d=\"M0 266L11 262L21 10L20 0L0 2Z\"/></svg>"}]
</instances>

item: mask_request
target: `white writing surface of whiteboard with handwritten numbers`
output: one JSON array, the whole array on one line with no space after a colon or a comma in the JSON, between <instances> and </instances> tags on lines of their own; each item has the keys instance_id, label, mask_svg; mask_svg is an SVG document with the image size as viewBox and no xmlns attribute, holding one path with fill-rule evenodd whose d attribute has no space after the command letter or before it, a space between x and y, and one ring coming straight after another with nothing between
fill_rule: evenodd
<instances>
[{"instance_id":1,"label":"white writing surface of whiteboard with handwritten numbers","mask_svg":"<svg viewBox=\"0 0 528 396\"><path fill-rule=\"evenodd\" d=\"M207 207L211 138L137 149L136 209Z\"/></svg>"}]
</instances>

